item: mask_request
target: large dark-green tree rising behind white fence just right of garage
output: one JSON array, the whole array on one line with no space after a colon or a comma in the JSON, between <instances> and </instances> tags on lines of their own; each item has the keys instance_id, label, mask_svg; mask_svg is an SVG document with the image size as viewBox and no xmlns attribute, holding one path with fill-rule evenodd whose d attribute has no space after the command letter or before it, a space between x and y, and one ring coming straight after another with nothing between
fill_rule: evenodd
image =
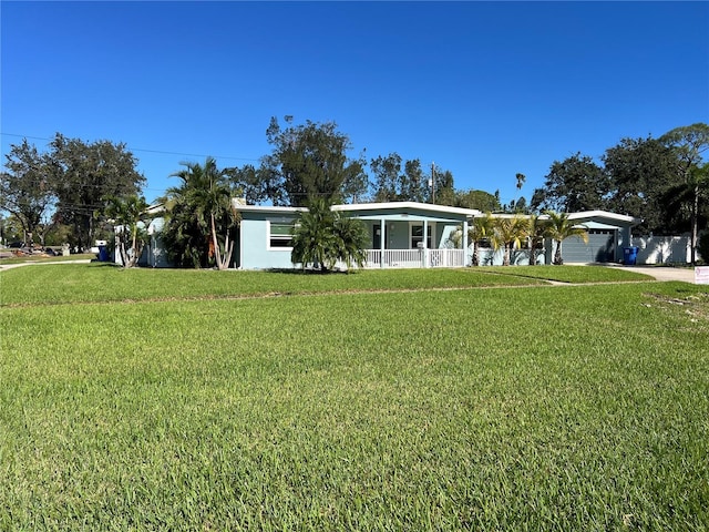
<instances>
[{"instance_id":1,"label":"large dark-green tree rising behind white fence just right of garage","mask_svg":"<svg viewBox=\"0 0 709 532\"><path fill-rule=\"evenodd\" d=\"M657 139L623 139L603 156L612 181L613 195L608 208L643 223L636 231L667 234L677 231L667 225L665 196L678 184L676 154Z\"/></svg>"}]
</instances>

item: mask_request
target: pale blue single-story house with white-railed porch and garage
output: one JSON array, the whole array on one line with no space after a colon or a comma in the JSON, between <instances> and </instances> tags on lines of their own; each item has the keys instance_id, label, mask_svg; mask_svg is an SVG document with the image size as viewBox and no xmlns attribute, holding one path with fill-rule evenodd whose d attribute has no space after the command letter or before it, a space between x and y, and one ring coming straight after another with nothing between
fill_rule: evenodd
<instances>
[{"instance_id":1,"label":"pale blue single-story house with white-railed porch and garage","mask_svg":"<svg viewBox=\"0 0 709 532\"><path fill-rule=\"evenodd\" d=\"M299 267L290 262L291 234L298 215L306 207L245 205L234 200L242 221L235 242L232 268L288 269ZM369 234L366 268L463 267L472 262L472 245L456 247L450 237L467 228L483 213L471 208L449 207L415 202L360 203L335 205L335 211L360 219ZM493 215L494 216L494 215ZM507 215L499 215L507 216ZM588 244L579 238L564 241L566 263L618 263L624 245L630 245L630 231L640 221L603 211L573 213L569 218L588 229ZM160 242L162 218L148 226L151 235L140 264L168 266ZM546 241L540 262L551 264L555 244ZM514 249L511 264L528 264L528 248ZM502 264L503 250L481 249L481 264Z\"/></svg>"}]
</instances>

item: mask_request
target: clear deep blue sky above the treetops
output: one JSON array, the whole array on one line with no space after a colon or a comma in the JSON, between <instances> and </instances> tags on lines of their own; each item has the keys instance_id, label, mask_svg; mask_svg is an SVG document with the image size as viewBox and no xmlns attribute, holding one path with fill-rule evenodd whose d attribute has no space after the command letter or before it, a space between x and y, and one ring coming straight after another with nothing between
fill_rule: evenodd
<instances>
[{"instance_id":1,"label":"clear deep blue sky above the treetops","mask_svg":"<svg viewBox=\"0 0 709 532\"><path fill-rule=\"evenodd\" d=\"M2 153L124 142L148 201L182 161L258 164L287 114L505 203L576 152L709 122L708 2L3 0L0 17Z\"/></svg>"}]
</instances>

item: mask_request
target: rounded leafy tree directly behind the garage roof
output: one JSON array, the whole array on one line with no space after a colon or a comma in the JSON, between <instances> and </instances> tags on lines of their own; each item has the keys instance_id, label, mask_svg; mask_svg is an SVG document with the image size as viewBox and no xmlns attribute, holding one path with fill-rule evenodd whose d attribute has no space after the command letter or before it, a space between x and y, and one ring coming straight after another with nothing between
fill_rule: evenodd
<instances>
[{"instance_id":1,"label":"rounded leafy tree directly behind the garage roof","mask_svg":"<svg viewBox=\"0 0 709 532\"><path fill-rule=\"evenodd\" d=\"M604 168L576 153L552 164L544 187L534 191L531 206L532 211L605 209L609 193L610 180Z\"/></svg>"}]
</instances>

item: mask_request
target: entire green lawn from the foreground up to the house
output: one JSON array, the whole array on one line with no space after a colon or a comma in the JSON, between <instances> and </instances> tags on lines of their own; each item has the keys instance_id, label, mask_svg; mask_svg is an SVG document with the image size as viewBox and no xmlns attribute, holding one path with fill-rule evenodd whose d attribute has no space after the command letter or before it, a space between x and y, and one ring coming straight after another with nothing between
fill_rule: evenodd
<instances>
[{"instance_id":1,"label":"entire green lawn from the foreground up to the house","mask_svg":"<svg viewBox=\"0 0 709 532\"><path fill-rule=\"evenodd\" d=\"M706 287L531 269L0 273L0 530L706 530Z\"/></svg>"}]
</instances>

